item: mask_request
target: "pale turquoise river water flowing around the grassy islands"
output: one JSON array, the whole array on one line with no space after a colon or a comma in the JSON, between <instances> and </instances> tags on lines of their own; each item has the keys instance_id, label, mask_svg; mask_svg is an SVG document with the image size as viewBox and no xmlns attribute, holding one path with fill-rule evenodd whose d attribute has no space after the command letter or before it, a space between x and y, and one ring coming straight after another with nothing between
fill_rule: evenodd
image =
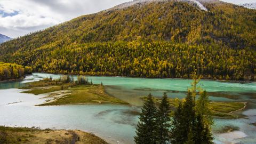
<instances>
[{"instance_id":1,"label":"pale turquoise river water flowing around the grassy islands","mask_svg":"<svg viewBox=\"0 0 256 144\"><path fill-rule=\"evenodd\" d=\"M138 122L138 116L134 115L134 111L140 111L142 105L139 97L149 92L155 97L162 97L163 92L167 92L170 98L184 98L191 82L187 79L88 77L94 84L102 82L107 93L131 103L131 106L106 104L36 107L34 105L44 102L44 99L41 99L44 95L20 93L22 90L17 89L25 86L27 82L50 76L60 77L34 73L21 82L0 83L0 125L79 129L94 132L111 143L116 143L117 140L121 143L134 143L133 136ZM213 101L249 102L249 110L243 112L248 118L214 120L215 142L255 143L256 130L251 123L256 122L256 84L201 81L200 85L211 92L210 99ZM6 105L8 103L11 104ZM225 125L238 126L239 130L232 133L217 133Z\"/></svg>"}]
</instances>

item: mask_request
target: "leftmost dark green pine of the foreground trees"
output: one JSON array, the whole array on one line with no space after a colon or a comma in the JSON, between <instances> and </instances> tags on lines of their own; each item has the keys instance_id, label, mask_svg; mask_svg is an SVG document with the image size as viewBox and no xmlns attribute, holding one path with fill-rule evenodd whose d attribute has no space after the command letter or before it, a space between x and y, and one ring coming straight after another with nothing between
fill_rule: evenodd
<instances>
[{"instance_id":1,"label":"leftmost dark green pine of the foreground trees","mask_svg":"<svg viewBox=\"0 0 256 144\"><path fill-rule=\"evenodd\" d=\"M157 108L150 93L141 110L140 122L136 129L137 135L134 137L135 143L156 143Z\"/></svg>"}]
</instances>

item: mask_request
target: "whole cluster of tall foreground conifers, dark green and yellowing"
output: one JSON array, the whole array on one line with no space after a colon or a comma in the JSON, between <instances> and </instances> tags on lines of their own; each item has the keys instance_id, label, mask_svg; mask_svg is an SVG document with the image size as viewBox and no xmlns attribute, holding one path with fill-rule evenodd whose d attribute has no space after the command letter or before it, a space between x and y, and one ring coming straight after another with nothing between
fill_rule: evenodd
<instances>
[{"instance_id":1,"label":"whole cluster of tall foreground conifers, dark green and yellowing","mask_svg":"<svg viewBox=\"0 0 256 144\"><path fill-rule=\"evenodd\" d=\"M194 78L183 100L175 99L170 103L164 93L158 108L155 104L158 99L149 94L141 109L135 143L214 143L211 134L213 103L210 103L206 91L197 86L198 82L199 79ZM198 91L199 97L196 98ZM171 106L175 107L173 112ZM173 113L172 118L170 113Z\"/></svg>"}]
</instances>

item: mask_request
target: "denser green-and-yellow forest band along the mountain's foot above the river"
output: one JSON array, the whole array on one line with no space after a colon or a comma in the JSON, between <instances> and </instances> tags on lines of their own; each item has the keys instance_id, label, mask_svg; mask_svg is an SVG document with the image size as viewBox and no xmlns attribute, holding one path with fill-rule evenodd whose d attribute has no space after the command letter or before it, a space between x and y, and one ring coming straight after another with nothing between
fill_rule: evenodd
<instances>
[{"instance_id":1,"label":"denser green-and-yellow forest band along the mountain's foot above the river","mask_svg":"<svg viewBox=\"0 0 256 144\"><path fill-rule=\"evenodd\" d=\"M191 78L197 69L204 78L255 80L255 55L228 47L134 41L73 44L13 58L47 73Z\"/></svg>"}]
</instances>

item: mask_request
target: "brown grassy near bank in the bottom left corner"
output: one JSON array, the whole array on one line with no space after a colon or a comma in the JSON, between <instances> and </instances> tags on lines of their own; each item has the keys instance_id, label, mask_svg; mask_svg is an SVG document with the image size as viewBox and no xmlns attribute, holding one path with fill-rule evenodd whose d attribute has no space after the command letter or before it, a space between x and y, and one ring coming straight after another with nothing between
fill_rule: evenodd
<instances>
[{"instance_id":1,"label":"brown grassy near bank in the bottom left corner","mask_svg":"<svg viewBox=\"0 0 256 144\"><path fill-rule=\"evenodd\" d=\"M99 143L107 144L91 133L79 130L40 130L27 127L0 126L0 143Z\"/></svg>"}]
</instances>

